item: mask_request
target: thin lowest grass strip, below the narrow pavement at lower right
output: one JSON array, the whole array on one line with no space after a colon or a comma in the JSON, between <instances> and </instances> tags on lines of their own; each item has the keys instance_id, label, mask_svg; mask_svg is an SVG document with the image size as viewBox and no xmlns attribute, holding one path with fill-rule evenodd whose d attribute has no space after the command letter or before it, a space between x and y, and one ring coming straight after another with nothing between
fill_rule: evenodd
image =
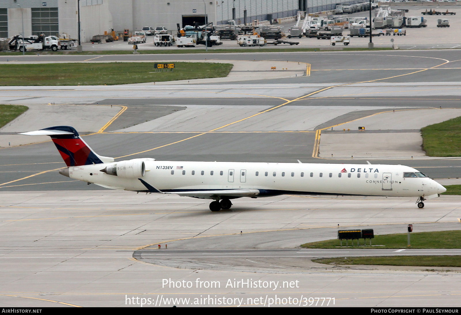
<instances>
[{"instance_id":1,"label":"thin lowest grass strip, below the narrow pavement at lower right","mask_svg":"<svg viewBox=\"0 0 461 315\"><path fill-rule=\"evenodd\" d=\"M341 257L313 259L313 262L331 265L461 267L459 256Z\"/></svg>"}]
</instances>

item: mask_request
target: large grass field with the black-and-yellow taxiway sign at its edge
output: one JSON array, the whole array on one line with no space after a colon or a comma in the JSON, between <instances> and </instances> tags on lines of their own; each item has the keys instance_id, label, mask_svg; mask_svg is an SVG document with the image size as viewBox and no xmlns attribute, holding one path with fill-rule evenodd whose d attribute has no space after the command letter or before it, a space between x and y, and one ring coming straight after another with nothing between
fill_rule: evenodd
<instances>
[{"instance_id":1,"label":"large grass field with the black-and-yellow taxiway sign at its edge","mask_svg":"<svg viewBox=\"0 0 461 315\"><path fill-rule=\"evenodd\" d=\"M176 62L155 72L154 63L0 64L0 85L113 85L227 76L232 64Z\"/></svg>"}]
</instances>

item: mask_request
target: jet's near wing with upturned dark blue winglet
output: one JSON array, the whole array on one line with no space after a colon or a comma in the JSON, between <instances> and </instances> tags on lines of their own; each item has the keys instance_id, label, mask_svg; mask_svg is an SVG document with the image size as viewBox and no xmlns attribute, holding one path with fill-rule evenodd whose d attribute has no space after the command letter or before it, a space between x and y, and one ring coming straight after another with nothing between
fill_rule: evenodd
<instances>
[{"instance_id":1,"label":"jet's near wing with upturned dark blue winglet","mask_svg":"<svg viewBox=\"0 0 461 315\"><path fill-rule=\"evenodd\" d=\"M222 199L223 197L257 197L260 194L258 189L225 189L225 190L205 190L205 191L180 191L180 192L161 192L157 188L151 186L148 182L143 181L141 178L138 178L144 186L148 189L149 192L158 192L158 193L169 193L176 194L183 197L194 197L202 199Z\"/></svg>"}]
</instances>

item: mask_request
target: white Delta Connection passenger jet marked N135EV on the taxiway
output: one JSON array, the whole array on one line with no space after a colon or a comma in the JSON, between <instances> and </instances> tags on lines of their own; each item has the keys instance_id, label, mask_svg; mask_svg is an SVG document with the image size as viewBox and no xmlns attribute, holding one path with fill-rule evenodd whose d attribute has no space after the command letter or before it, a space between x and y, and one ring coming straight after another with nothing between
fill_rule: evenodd
<instances>
[{"instance_id":1,"label":"white Delta Connection passenger jet marked N135EV on the taxiway","mask_svg":"<svg viewBox=\"0 0 461 315\"><path fill-rule=\"evenodd\" d=\"M446 189L403 165L326 163L180 162L135 158L114 162L86 144L77 130L55 126L27 135L49 135L67 167L59 173L101 187L213 199L210 210L230 209L231 199L282 194L436 198Z\"/></svg>"}]
</instances>

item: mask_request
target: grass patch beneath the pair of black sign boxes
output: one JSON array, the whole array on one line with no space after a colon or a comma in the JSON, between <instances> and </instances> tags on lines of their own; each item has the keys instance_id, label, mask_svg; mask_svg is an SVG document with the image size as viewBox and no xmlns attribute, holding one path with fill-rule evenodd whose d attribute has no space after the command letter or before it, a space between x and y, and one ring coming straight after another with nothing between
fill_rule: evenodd
<instances>
[{"instance_id":1,"label":"grass patch beneath the pair of black sign boxes","mask_svg":"<svg viewBox=\"0 0 461 315\"><path fill-rule=\"evenodd\" d=\"M370 244L370 240L366 240ZM407 233L375 235L372 239L372 245L382 246L364 246L363 239L360 240L361 246L346 247L346 241L343 240L343 248L461 248L461 231L437 231L437 232L420 232L411 233L411 247L408 247ZM304 248L335 248L340 246L339 239L330 239L326 241L307 243L301 245Z\"/></svg>"}]
</instances>

